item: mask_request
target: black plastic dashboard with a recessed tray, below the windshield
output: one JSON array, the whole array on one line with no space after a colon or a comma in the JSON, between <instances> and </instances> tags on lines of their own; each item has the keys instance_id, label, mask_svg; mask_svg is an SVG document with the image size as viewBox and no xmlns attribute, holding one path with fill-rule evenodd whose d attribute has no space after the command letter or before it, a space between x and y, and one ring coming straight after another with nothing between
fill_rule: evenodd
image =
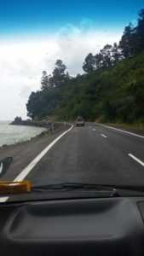
<instances>
[{"instance_id":1,"label":"black plastic dashboard with a recessed tray, below the windshield","mask_svg":"<svg viewBox=\"0 0 144 256\"><path fill-rule=\"evenodd\" d=\"M144 255L144 198L7 202L1 255Z\"/></svg>"}]
</instances>

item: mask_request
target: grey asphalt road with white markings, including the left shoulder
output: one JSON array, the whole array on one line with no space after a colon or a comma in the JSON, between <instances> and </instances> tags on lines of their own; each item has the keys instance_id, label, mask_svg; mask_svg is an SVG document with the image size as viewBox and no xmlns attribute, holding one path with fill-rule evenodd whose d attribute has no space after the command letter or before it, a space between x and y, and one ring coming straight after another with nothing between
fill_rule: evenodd
<instances>
[{"instance_id":1,"label":"grey asphalt road with white markings, including the left shoulder","mask_svg":"<svg viewBox=\"0 0 144 256\"><path fill-rule=\"evenodd\" d=\"M14 162L2 180L25 178L32 186L66 182L144 185L143 136L95 123L66 130L9 149Z\"/></svg>"}]
</instances>

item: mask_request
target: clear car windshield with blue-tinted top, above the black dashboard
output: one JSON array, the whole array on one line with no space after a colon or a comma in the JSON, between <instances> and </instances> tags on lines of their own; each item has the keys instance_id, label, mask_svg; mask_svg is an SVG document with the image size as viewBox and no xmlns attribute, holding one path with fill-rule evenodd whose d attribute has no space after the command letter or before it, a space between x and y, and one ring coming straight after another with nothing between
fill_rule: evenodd
<instances>
[{"instance_id":1,"label":"clear car windshield with blue-tinted top, above the black dashboard","mask_svg":"<svg viewBox=\"0 0 144 256\"><path fill-rule=\"evenodd\" d=\"M144 187L143 1L0 0L0 90L1 183Z\"/></svg>"}]
</instances>

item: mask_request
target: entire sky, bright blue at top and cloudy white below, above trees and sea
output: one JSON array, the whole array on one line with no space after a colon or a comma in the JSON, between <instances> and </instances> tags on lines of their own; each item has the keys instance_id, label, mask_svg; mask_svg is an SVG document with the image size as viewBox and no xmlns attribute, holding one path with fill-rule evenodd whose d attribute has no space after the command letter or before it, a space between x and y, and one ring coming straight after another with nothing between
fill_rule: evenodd
<instances>
[{"instance_id":1,"label":"entire sky, bright blue at top and cloudy white below, above trees and sea","mask_svg":"<svg viewBox=\"0 0 144 256\"><path fill-rule=\"evenodd\" d=\"M26 102L61 59L72 76L86 55L136 26L144 0L0 0L0 120L26 119Z\"/></svg>"}]
</instances>

